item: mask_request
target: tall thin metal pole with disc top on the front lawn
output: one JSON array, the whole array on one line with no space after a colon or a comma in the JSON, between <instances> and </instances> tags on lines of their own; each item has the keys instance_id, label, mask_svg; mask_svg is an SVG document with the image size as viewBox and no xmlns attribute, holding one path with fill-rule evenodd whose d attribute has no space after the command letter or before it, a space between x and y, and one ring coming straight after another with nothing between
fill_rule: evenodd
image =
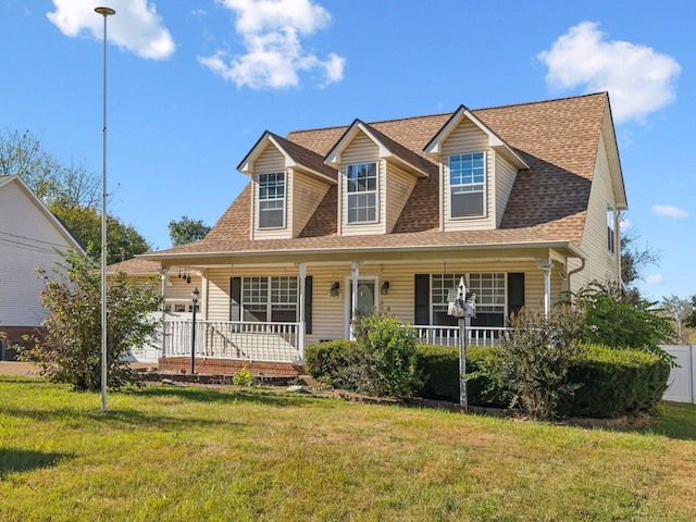
<instances>
[{"instance_id":1,"label":"tall thin metal pole with disc top on the front lawn","mask_svg":"<svg viewBox=\"0 0 696 522\"><path fill-rule=\"evenodd\" d=\"M116 14L111 8L96 8L104 17L104 125L102 144L101 194L101 411L107 411L107 16Z\"/></svg>"}]
</instances>

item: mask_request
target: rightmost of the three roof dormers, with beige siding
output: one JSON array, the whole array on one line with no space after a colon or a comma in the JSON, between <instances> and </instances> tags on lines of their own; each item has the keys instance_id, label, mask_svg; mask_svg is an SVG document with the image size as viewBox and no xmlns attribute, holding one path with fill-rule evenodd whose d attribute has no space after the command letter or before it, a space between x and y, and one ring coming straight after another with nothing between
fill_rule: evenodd
<instances>
[{"instance_id":1,"label":"rightmost of the three roof dormers, with beige siding","mask_svg":"<svg viewBox=\"0 0 696 522\"><path fill-rule=\"evenodd\" d=\"M440 231L500 225L514 178L530 165L460 105L424 152L439 164Z\"/></svg>"}]
</instances>

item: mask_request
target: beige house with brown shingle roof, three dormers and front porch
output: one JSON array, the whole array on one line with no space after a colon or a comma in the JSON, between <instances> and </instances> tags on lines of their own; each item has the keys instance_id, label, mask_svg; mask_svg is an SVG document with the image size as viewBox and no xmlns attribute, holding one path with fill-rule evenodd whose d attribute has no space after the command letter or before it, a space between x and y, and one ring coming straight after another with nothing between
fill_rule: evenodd
<instances>
[{"instance_id":1,"label":"beige house with brown shingle roof, three dormers and front porch","mask_svg":"<svg viewBox=\"0 0 696 522\"><path fill-rule=\"evenodd\" d=\"M626 195L607 94L265 132L238 170L248 185L202 240L140 258L202 274L207 357L276 360L233 333L296 324L263 332L301 363L304 343L349 338L353 311L376 308L451 339L461 276L472 338L488 343L521 307L620 281Z\"/></svg>"}]
</instances>

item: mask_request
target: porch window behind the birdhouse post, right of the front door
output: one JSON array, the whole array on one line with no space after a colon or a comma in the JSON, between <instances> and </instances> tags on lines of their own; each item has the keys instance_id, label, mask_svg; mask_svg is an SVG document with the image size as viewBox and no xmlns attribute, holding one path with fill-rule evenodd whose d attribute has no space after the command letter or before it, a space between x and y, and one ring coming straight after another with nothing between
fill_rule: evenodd
<instances>
[{"instance_id":1,"label":"porch window behind the birdhouse post, right of the front door","mask_svg":"<svg viewBox=\"0 0 696 522\"><path fill-rule=\"evenodd\" d=\"M447 297L457 288L464 274L433 274L431 278L432 324L456 326L457 318L447 314ZM476 294L476 316L473 326L505 325L505 274L469 274L467 291Z\"/></svg>"}]
</instances>

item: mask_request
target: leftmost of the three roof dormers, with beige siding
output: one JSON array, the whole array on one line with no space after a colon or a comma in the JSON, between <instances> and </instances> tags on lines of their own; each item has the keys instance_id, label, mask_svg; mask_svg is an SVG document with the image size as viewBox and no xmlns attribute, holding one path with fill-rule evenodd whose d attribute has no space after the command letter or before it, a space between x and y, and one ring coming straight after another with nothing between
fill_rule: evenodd
<instances>
[{"instance_id":1,"label":"leftmost of the three roof dormers, with beige siding","mask_svg":"<svg viewBox=\"0 0 696 522\"><path fill-rule=\"evenodd\" d=\"M250 239L297 237L338 178L321 156L268 130L237 170L251 177Z\"/></svg>"}]
</instances>

